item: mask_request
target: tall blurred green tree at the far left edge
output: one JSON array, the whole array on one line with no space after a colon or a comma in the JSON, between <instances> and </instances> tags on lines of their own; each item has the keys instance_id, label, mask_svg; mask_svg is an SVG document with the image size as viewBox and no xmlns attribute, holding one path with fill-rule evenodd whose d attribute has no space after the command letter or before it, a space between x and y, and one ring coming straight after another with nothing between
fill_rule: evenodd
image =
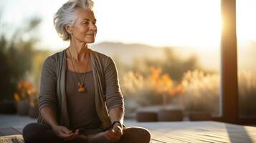
<instances>
[{"instance_id":1,"label":"tall blurred green tree at the far left edge","mask_svg":"<svg viewBox=\"0 0 256 143\"><path fill-rule=\"evenodd\" d=\"M21 27L16 28L9 39L6 38L9 35L8 30L1 31L0 100L12 100L16 84L24 79L25 74L32 68L34 45L37 43L37 36L34 36L37 32L34 31L40 21L37 17L28 20Z\"/></svg>"}]
</instances>

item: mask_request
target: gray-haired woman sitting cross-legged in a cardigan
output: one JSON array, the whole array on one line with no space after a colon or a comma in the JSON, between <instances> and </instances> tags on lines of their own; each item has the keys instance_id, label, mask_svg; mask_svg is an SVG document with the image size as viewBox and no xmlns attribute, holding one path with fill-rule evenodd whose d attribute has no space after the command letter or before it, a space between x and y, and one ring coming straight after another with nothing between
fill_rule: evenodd
<instances>
[{"instance_id":1,"label":"gray-haired woman sitting cross-legged in a cardigan","mask_svg":"<svg viewBox=\"0 0 256 143\"><path fill-rule=\"evenodd\" d=\"M123 125L123 95L114 61L93 51L93 1L67 1L54 26L70 46L44 61L37 123L23 130L25 142L150 142L140 127Z\"/></svg>"}]
</instances>

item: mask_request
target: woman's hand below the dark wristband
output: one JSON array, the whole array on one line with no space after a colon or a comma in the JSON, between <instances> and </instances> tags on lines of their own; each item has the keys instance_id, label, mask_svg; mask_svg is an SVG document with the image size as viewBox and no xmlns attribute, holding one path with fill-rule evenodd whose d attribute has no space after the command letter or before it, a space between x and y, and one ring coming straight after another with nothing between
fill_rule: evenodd
<instances>
[{"instance_id":1,"label":"woman's hand below the dark wristband","mask_svg":"<svg viewBox=\"0 0 256 143\"><path fill-rule=\"evenodd\" d=\"M105 134L105 137L110 141L110 142L118 142L120 137L123 134L123 127L121 127L120 124L115 124L113 129L108 130Z\"/></svg>"}]
</instances>

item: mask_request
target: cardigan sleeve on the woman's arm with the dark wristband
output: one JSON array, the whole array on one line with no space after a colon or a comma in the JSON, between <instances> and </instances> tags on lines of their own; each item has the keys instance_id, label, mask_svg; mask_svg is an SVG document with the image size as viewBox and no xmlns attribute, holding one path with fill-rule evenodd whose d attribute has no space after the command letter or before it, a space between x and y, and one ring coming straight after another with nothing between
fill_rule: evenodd
<instances>
[{"instance_id":1,"label":"cardigan sleeve on the woman's arm with the dark wristband","mask_svg":"<svg viewBox=\"0 0 256 143\"><path fill-rule=\"evenodd\" d=\"M105 66L105 98L108 112L110 109L120 107L124 111L123 94L120 90L118 70L113 59L108 57Z\"/></svg>"}]
</instances>

